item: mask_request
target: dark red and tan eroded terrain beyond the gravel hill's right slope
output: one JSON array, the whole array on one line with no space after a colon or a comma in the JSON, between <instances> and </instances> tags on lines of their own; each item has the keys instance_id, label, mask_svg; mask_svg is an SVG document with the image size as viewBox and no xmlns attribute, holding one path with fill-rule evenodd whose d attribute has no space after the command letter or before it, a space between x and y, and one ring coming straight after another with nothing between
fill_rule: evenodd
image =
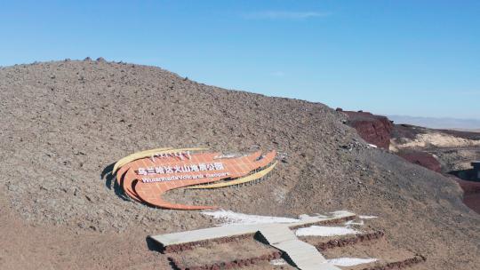
<instances>
[{"instance_id":1,"label":"dark red and tan eroded terrain beyond the gravel hill's right slope","mask_svg":"<svg viewBox=\"0 0 480 270\"><path fill-rule=\"evenodd\" d=\"M343 110L337 108L337 111ZM410 163L454 179L464 192L463 202L480 213L480 180L476 176L472 177L475 173L470 165L480 160L479 132L434 130L410 124L395 124L385 116L362 111L344 113L348 116L347 123L367 142L390 149ZM389 124L381 124L380 120Z\"/></svg>"}]
</instances>

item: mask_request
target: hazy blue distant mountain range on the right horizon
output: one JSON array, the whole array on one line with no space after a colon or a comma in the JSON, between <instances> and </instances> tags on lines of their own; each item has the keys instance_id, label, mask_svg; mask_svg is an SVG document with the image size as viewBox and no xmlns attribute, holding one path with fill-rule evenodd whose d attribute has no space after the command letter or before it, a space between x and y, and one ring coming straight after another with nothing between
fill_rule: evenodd
<instances>
[{"instance_id":1,"label":"hazy blue distant mountain range on the right horizon","mask_svg":"<svg viewBox=\"0 0 480 270\"><path fill-rule=\"evenodd\" d=\"M417 117L407 115L387 115L394 123L408 123L431 129L454 129L480 131L480 119L457 119L457 118L436 118Z\"/></svg>"}]
</instances>

